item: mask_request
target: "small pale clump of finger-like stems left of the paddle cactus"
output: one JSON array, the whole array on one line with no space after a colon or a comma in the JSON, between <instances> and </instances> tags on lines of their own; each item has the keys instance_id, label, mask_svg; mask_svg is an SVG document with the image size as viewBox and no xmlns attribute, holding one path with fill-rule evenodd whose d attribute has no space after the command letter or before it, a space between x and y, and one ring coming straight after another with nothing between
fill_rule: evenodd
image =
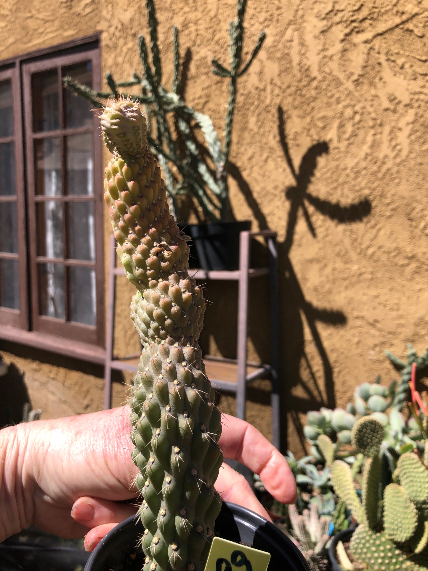
<instances>
[{"instance_id":1,"label":"small pale clump of finger-like stems left of the paddle cactus","mask_svg":"<svg viewBox=\"0 0 428 571\"><path fill-rule=\"evenodd\" d=\"M310 504L310 509L304 509L302 515L297 513L295 505L290 505L288 516L297 545L308 561L310 569L312 571L327 569L325 552L330 539L329 527L332 518L320 516L316 503Z\"/></svg>"}]
</instances>

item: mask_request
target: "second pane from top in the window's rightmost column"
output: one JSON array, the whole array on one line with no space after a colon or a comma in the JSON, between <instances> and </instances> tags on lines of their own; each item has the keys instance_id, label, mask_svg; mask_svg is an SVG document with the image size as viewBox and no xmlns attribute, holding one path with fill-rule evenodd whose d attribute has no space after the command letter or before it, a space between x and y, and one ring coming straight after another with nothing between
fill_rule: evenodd
<instances>
[{"instance_id":1,"label":"second pane from top in the window's rightmost column","mask_svg":"<svg viewBox=\"0 0 428 571\"><path fill-rule=\"evenodd\" d=\"M92 133L66 137L68 194L94 195Z\"/></svg>"}]
</instances>

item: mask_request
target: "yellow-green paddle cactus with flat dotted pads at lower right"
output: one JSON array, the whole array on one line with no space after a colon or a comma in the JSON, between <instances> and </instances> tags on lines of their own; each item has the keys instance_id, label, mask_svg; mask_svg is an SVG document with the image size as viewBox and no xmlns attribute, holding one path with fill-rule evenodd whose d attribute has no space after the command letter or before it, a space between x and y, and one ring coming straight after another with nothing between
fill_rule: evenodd
<instances>
[{"instance_id":1,"label":"yellow-green paddle cactus with flat dotted pads at lower right","mask_svg":"<svg viewBox=\"0 0 428 571\"><path fill-rule=\"evenodd\" d=\"M417 454L404 453L398 459L393 481L383 490L383 502L379 502L382 489L379 451L384 437L382 424L370 416L362 417L353 427L352 443L366 458L362 502L349 465L341 460L332 465L334 489L359 524L350 553L360 569L426 571L428 470Z\"/></svg>"}]
</instances>

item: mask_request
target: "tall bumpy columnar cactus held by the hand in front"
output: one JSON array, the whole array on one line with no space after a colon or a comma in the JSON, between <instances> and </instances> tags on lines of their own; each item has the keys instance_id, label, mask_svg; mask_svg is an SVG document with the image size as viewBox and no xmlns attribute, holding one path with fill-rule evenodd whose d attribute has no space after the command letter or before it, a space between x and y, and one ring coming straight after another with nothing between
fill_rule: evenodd
<instances>
[{"instance_id":1,"label":"tall bumpy columnar cactus held by the hand in front","mask_svg":"<svg viewBox=\"0 0 428 571\"><path fill-rule=\"evenodd\" d=\"M104 198L143 352L131 396L132 459L143 502L144 571L203 571L221 501L220 412L198 344L205 300L189 278L189 247L169 214L142 106L109 100L100 116L113 154Z\"/></svg>"}]
</instances>

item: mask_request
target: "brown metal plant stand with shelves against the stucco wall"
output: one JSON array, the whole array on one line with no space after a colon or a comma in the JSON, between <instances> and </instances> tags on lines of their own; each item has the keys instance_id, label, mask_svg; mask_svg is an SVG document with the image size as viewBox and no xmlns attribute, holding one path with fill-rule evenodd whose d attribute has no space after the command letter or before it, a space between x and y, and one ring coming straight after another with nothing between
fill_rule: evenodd
<instances>
[{"instance_id":1,"label":"brown metal plant stand with shelves against the stucco wall","mask_svg":"<svg viewBox=\"0 0 428 571\"><path fill-rule=\"evenodd\" d=\"M267 243L269 267L250 268L251 238L261 236ZM111 407L111 371L136 372L138 370L139 353L123 359L113 356L115 278L124 275L122 267L116 267L116 243L114 236L110 239L110 256L108 269L108 309L107 309L107 343L105 360L104 408ZM235 280L238 282L238 331L237 359L225 359L212 355L204 355L207 376L219 392L230 392L236 395L236 416L245 419L245 395L247 385L256 379L269 379L272 384L270 404L272 407L272 443L280 448L280 395L278 387L279 345L278 345L278 254L276 233L269 230L260 232L243 231L240 233L239 270L189 270L189 275L196 280ZM252 279L269 276L270 290L270 363L249 363L247 361L248 333L248 296Z\"/></svg>"}]
</instances>

